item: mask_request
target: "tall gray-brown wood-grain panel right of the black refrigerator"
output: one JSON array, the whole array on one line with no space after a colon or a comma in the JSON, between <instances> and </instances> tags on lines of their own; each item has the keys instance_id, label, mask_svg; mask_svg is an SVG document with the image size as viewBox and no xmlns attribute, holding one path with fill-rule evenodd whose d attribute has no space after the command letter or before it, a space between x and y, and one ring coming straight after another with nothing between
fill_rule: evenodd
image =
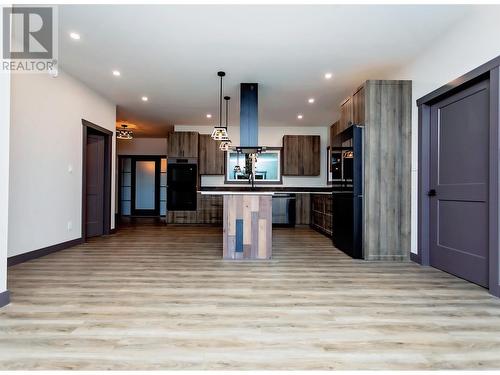
<instances>
[{"instance_id":1,"label":"tall gray-brown wood-grain panel right of the black refrigerator","mask_svg":"<svg viewBox=\"0 0 500 375\"><path fill-rule=\"evenodd\" d=\"M411 220L411 81L367 81L364 257L407 260Z\"/></svg>"}]
</instances>

